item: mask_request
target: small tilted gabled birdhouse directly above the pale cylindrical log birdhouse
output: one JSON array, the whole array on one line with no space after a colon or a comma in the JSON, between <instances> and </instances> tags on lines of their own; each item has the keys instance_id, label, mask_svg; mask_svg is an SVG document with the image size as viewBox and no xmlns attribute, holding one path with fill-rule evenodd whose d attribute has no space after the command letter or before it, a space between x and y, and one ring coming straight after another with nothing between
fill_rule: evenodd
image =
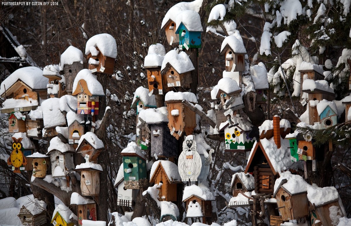
<instances>
[{"instance_id":1,"label":"small tilted gabled birdhouse directly above the pale cylindrical log birdhouse","mask_svg":"<svg viewBox=\"0 0 351 226\"><path fill-rule=\"evenodd\" d=\"M96 161L100 152L105 148L104 142L92 132L81 135L76 153L80 153L88 161Z\"/></svg>"}]
</instances>

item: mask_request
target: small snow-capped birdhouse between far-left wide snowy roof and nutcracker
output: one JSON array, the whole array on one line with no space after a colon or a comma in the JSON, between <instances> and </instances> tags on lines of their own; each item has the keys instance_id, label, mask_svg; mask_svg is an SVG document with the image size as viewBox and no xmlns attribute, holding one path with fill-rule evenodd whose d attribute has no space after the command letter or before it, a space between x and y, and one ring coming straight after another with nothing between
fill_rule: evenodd
<instances>
[{"instance_id":1,"label":"small snow-capped birdhouse between far-left wide snowy roof and nutcracker","mask_svg":"<svg viewBox=\"0 0 351 226\"><path fill-rule=\"evenodd\" d=\"M60 75L59 65L52 64L45 66L43 69L43 76L49 79L49 84L47 85L48 98L60 98L67 94L66 85L64 83L65 80L62 79Z\"/></svg>"}]
</instances>

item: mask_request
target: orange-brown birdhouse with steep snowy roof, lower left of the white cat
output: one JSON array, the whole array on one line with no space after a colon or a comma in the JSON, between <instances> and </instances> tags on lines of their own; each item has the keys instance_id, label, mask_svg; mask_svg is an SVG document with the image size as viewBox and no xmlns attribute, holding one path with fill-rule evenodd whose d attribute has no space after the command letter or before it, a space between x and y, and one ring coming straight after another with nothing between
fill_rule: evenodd
<instances>
[{"instance_id":1,"label":"orange-brown birdhouse with steep snowy roof, lower left of the white cat","mask_svg":"<svg viewBox=\"0 0 351 226\"><path fill-rule=\"evenodd\" d=\"M177 184L181 182L178 166L171 161L155 161L151 167L150 182L158 184L160 201L177 201Z\"/></svg>"}]
</instances>

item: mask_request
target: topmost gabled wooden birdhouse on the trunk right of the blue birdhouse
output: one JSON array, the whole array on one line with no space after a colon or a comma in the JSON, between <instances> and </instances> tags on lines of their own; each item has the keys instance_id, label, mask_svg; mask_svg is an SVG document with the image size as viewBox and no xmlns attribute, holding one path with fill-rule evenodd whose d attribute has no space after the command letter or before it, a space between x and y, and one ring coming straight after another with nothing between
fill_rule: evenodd
<instances>
[{"instance_id":1,"label":"topmost gabled wooden birdhouse on the trunk right of the blue birdhouse","mask_svg":"<svg viewBox=\"0 0 351 226\"><path fill-rule=\"evenodd\" d=\"M234 35L227 36L221 45L221 55L225 55L225 70L243 72L245 70L246 49L242 39Z\"/></svg>"}]
</instances>

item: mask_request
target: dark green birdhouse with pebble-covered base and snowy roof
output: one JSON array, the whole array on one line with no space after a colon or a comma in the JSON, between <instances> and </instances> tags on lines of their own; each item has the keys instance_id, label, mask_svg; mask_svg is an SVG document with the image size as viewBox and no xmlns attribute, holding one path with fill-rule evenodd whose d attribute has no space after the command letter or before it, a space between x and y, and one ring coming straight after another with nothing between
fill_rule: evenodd
<instances>
[{"instance_id":1,"label":"dark green birdhouse with pebble-covered base and snowy roof","mask_svg":"<svg viewBox=\"0 0 351 226\"><path fill-rule=\"evenodd\" d=\"M124 186L126 189L139 189L147 185L147 169L144 154L135 142L130 142L122 150Z\"/></svg>"}]
</instances>

